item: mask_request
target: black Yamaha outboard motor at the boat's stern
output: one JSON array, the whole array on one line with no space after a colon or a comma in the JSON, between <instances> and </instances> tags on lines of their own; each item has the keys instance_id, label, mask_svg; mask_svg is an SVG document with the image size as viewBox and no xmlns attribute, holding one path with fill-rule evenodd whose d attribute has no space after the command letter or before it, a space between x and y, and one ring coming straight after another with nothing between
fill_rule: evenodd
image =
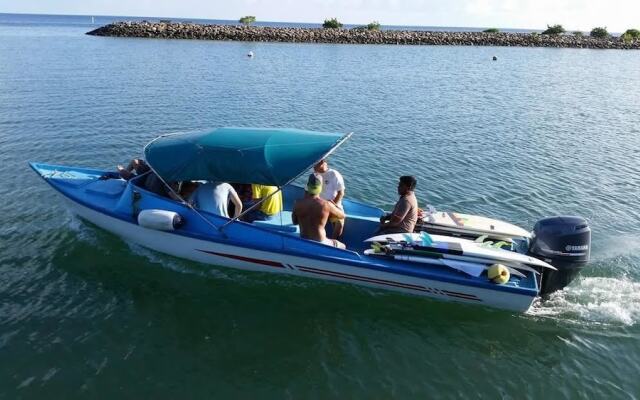
<instances>
[{"instance_id":1,"label":"black Yamaha outboard motor at the boat's stern","mask_svg":"<svg viewBox=\"0 0 640 400\"><path fill-rule=\"evenodd\" d=\"M581 217L551 217L536 223L529 244L529 255L556 267L542 273L540 295L567 286L589 262L591 229Z\"/></svg>"}]
</instances>

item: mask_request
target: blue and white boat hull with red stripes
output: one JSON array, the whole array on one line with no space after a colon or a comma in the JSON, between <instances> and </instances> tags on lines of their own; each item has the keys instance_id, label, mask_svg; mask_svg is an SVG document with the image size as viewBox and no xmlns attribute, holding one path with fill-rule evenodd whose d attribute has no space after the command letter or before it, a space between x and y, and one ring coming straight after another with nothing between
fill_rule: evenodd
<instances>
[{"instance_id":1,"label":"blue and white boat hull with red stripes","mask_svg":"<svg viewBox=\"0 0 640 400\"><path fill-rule=\"evenodd\" d=\"M533 273L504 285L486 275L472 277L446 267L399 262L364 254L382 211L345 200L345 238L349 250L301 239L289 226L286 212L301 197L296 186L283 189L282 220L269 225L233 222L157 196L136 185L135 179L100 180L106 171L32 163L31 167L66 200L81 218L127 241L176 257L242 270L289 274L426 296L438 300L526 311L538 294ZM140 210L174 211L186 223L174 231L145 228L137 222ZM279 225L281 222L282 225Z\"/></svg>"}]
</instances>

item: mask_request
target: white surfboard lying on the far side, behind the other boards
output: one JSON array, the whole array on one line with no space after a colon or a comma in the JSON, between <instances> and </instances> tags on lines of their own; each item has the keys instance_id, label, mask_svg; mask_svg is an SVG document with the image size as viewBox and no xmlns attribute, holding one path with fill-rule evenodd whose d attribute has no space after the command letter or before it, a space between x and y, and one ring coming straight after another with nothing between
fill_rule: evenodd
<instances>
[{"instance_id":1,"label":"white surfboard lying on the far side, behind the other boards","mask_svg":"<svg viewBox=\"0 0 640 400\"><path fill-rule=\"evenodd\" d=\"M495 239L529 238L531 234L519 226L479 215L434 211L424 217L420 229L436 234L466 236L488 235Z\"/></svg>"}]
</instances>

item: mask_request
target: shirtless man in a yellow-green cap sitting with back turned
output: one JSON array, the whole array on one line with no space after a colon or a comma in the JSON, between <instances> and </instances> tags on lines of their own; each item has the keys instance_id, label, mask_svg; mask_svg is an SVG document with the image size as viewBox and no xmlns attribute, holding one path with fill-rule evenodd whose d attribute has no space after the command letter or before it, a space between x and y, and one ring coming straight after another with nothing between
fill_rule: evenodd
<instances>
[{"instance_id":1,"label":"shirtless man in a yellow-green cap sitting with back turned","mask_svg":"<svg viewBox=\"0 0 640 400\"><path fill-rule=\"evenodd\" d=\"M291 219L295 225L300 225L301 238L344 249L344 243L327 238L324 230L329 218L344 219L344 212L334 203L321 198L321 192L322 180L316 174L309 175L304 198L296 201Z\"/></svg>"}]
</instances>

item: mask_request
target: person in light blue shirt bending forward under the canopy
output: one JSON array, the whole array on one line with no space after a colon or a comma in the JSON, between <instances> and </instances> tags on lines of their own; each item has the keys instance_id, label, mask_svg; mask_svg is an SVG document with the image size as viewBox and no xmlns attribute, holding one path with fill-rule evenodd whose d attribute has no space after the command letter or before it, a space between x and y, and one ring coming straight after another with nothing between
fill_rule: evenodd
<instances>
[{"instance_id":1,"label":"person in light blue shirt bending forward under the canopy","mask_svg":"<svg viewBox=\"0 0 640 400\"><path fill-rule=\"evenodd\" d=\"M191 199L195 207L229 218L229 202L234 206L233 218L242 212L242 201L236 190L226 182L207 182L200 185Z\"/></svg>"}]
</instances>

